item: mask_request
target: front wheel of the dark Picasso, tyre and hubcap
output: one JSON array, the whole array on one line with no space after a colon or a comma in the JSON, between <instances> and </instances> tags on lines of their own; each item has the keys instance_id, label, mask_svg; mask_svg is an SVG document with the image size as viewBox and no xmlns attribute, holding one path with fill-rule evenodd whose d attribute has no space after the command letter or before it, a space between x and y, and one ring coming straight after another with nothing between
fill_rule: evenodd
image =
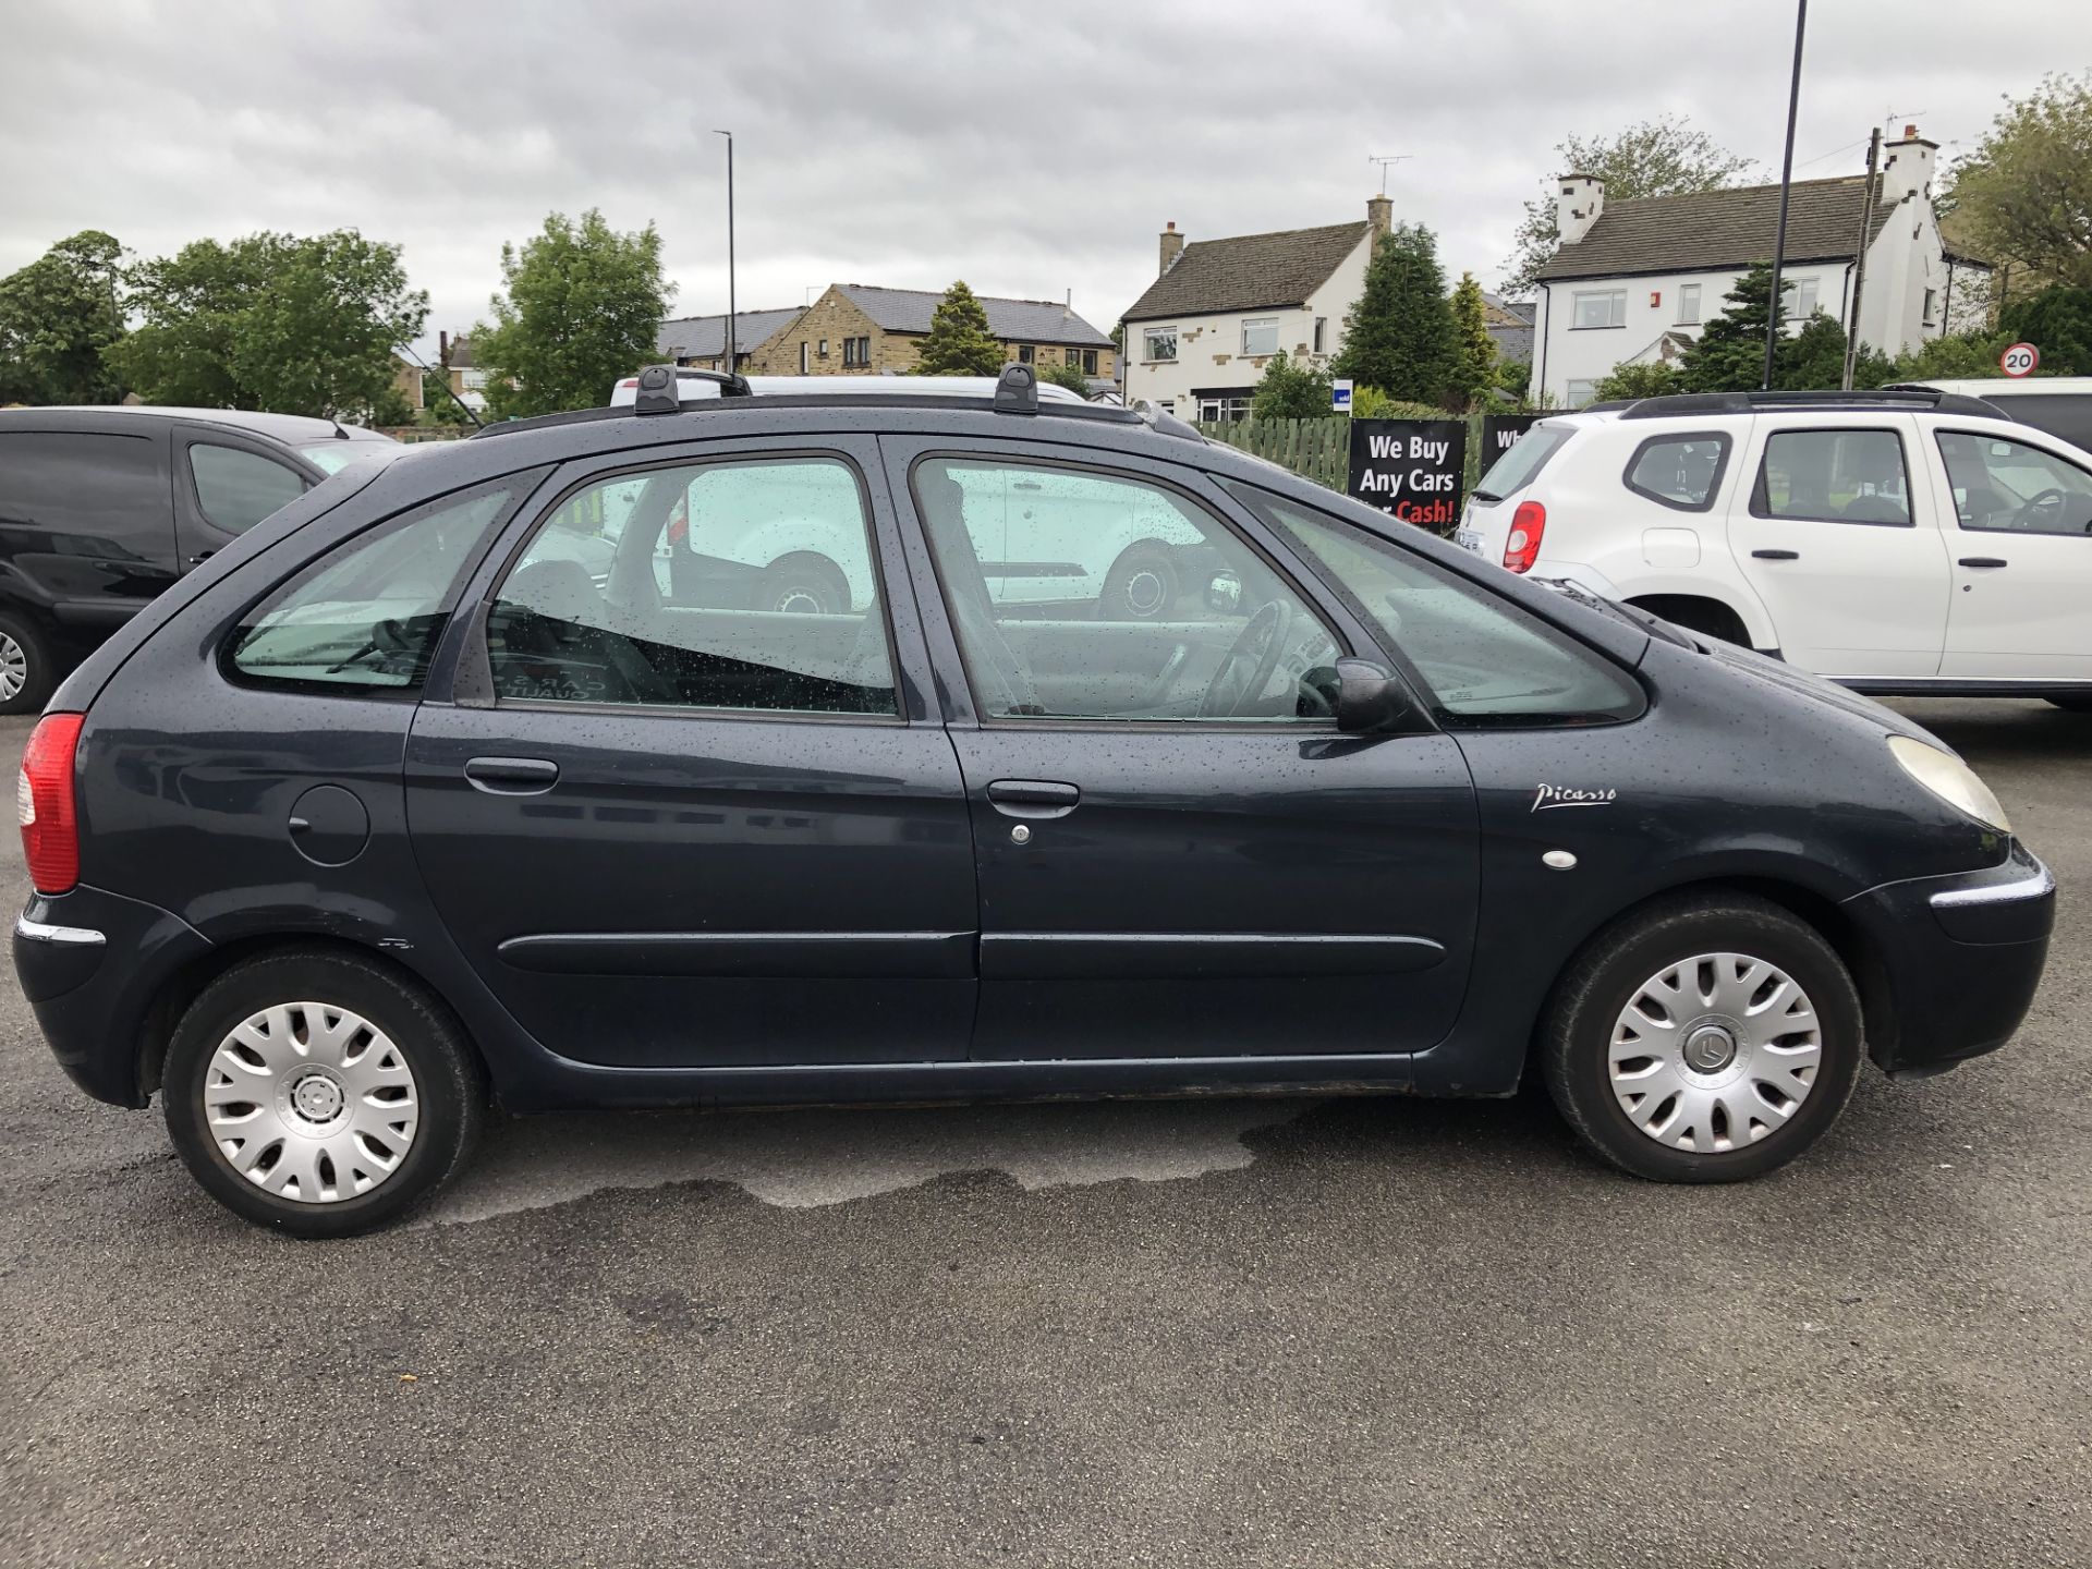
<instances>
[{"instance_id":1,"label":"front wheel of the dark Picasso, tyre and hubcap","mask_svg":"<svg viewBox=\"0 0 2092 1569\"><path fill-rule=\"evenodd\" d=\"M1743 1182L1822 1138L1860 1071L1860 996L1812 927L1768 900L1640 910L1571 962L1540 1029L1554 1105L1653 1182Z\"/></svg>"}]
</instances>

